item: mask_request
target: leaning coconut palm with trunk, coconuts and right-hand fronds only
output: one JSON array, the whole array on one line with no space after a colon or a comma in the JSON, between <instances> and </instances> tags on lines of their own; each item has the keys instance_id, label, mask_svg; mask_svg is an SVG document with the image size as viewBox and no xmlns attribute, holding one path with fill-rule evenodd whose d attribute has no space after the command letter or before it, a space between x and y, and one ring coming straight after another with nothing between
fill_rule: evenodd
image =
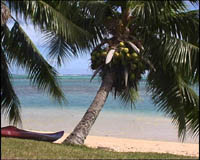
<instances>
[{"instance_id":1,"label":"leaning coconut palm with trunk, coconuts and right-hand fronds only","mask_svg":"<svg viewBox=\"0 0 200 160\"><path fill-rule=\"evenodd\" d=\"M196 3L197 1L190 1ZM102 84L87 112L64 143L83 144L108 94L134 104L144 73L158 109L178 126L178 136L198 135L199 15L183 1L80 2L83 14L102 26L91 68Z\"/></svg>"}]
</instances>

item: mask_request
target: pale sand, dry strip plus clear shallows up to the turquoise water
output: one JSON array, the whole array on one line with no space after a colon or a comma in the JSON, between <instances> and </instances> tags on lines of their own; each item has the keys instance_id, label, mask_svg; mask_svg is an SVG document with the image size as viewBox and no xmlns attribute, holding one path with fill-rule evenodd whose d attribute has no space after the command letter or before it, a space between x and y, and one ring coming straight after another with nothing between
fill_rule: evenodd
<instances>
[{"instance_id":1,"label":"pale sand, dry strip plus clear shallows up to the turquoise water","mask_svg":"<svg viewBox=\"0 0 200 160\"><path fill-rule=\"evenodd\" d=\"M66 133L73 131L84 114L80 111L56 109L40 109L37 112L24 109L23 113L23 129L52 132L64 129L65 134L55 143L61 143L66 138ZM7 122L1 122L2 127L7 125ZM171 119L105 112L98 117L85 144L121 152L159 152L198 156L198 138L186 140L186 143L178 141L177 129L171 124Z\"/></svg>"}]
</instances>

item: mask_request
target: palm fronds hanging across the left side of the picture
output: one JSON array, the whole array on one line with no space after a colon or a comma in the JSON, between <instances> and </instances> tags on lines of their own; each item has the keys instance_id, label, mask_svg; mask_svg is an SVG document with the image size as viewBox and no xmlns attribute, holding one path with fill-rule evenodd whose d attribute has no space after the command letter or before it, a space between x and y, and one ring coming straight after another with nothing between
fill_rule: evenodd
<instances>
[{"instance_id":1,"label":"palm fronds hanging across the left side of the picture","mask_svg":"<svg viewBox=\"0 0 200 160\"><path fill-rule=\"evenodd\" d=\"M86 28L87 21L81 23L83 27L80 28L80 22L75 19L78 15L73 18L77 24L70 20L71 13L75 11L72 5L71 2L63 4L63 1L1 2L1 111L8 116L10 123L21 123L20 102L10 81L10 64L24 68L32 85L37 85L39 90L46 91L59 103L66 102L56 79L56 70L42 57L12 13L15 12L16 17L22 17L27 24L31 22L43 31L46 43L50 45L49 55L56 57L58 65L61 65L61 56L78 56L79 50L96 43L90 40L92 36L89 32L82 29L84 26ZM58 6L71 7L71 10L62 8L63 12L60 12ZM6 23L9 18L14 21L11 29Z\"/></svg>"}]
</instances>

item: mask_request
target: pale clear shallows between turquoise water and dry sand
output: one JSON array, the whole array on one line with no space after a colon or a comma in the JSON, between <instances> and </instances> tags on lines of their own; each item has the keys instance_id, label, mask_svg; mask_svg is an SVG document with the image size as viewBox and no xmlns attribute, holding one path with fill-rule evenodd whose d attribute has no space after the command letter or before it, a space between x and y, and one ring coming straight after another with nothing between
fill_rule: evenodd
<instances>
[{"instance_id":1,"label":"pale clear shallows between turquoise water and dry sand","mask_svg":"<svg viewBox=\"0 0 200 160\"><path fill-rule=\"evenodd\" d=\"M49 114L46 114L47 111ZM25 109L22 113L23 126L20 128L47 132L64 130L65 133L71 133L83 114L84 112L80 112L80 110ZM9 123L2 119L1 126L7 125ZM177 128L171 124L171 120L167 117L150 117L112 112L102 112L91 128L89 135L147 141L180 142L177 136ZM198 144L198 139L198 137L191 137L188 134L184 143Z\"/></svg>"}]
</instances>

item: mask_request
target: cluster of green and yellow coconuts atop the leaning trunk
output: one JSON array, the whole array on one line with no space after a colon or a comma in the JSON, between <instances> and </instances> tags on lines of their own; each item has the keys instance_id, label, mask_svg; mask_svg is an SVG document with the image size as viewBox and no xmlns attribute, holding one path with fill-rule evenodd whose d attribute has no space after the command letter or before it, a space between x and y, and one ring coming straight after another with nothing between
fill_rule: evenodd
<instances>
[{"instance_id":1,"label":"cluster of green and yellow coconuts atop the leaning trunk","mask_svg":"<svg viewBox=\"0 0 200 160\"><path fill-rule=\"evenodd\" d=\"M109 49L102 49L92 53L91 68L93 70L96 70L100 65L105 64L108 52ZM128 73L128 85L131 86L133 82L141 79L141 74L145 72L146 64L142 60L140 54L137 54L129 44L120 42L115 49L111 62L106 64L102 70L108 68L116 73L116 85L119 86L118 83L121 83L122 81L124 81L123 84L125 84L126 72L126 74Z\"/></svg>"}]
</instances>

